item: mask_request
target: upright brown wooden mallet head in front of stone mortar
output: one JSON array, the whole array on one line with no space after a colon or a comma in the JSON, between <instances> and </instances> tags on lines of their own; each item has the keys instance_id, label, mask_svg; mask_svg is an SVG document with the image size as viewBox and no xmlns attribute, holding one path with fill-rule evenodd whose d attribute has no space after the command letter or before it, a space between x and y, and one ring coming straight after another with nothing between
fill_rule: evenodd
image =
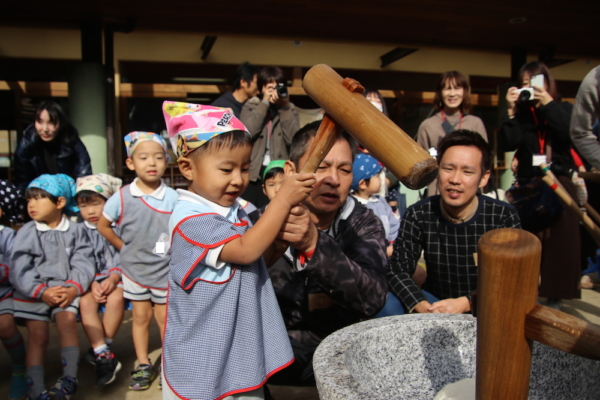
<instances>
[{"instance_id":1,"label":"upright brown wooden mallet head in front of stone mortar","mask_svg":"<svg viewBox=\"0 0 600 400\"><path fill-rule=\"evenodd\" d=\"M527 399L532 341L525 317L537 302L542 246L514 228L479 239L477 400Z\"/></svg>"}]
</instances>

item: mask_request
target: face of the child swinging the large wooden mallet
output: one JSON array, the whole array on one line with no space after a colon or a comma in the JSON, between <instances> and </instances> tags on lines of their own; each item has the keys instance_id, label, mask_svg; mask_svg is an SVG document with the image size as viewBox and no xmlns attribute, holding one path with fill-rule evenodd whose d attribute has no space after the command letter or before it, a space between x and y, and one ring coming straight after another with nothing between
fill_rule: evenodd
<instances>
[{"instance_id":1,"label":"face of the child swinging the large wooden mallet","mask_svg":"<svg viewBox=\"0 0 600 400\"><path fill-rule=\"evenodd\" d=\"M252 146L221 147L191 159L190 190L223 207L242 195L250 180Z\"/></svg>"}]
</instances>

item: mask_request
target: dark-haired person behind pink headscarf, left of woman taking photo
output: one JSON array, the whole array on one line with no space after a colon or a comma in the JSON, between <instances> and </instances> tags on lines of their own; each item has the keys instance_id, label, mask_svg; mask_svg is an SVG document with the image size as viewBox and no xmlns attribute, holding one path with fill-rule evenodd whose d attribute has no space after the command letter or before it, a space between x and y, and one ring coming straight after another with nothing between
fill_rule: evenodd
<instances>
[{"instance_id":1,"label":"dark-haired person behind pink headscarf, left of woman taking photo","mask_svg":"<svg viewBox=\"0 0 600 400\"><path fill-rule=\"evenodd\" d=\"M258 94L258 68L245 62L235 70L233 77L233 90L229 90L217 97L211 105L215 107L231 108L233 114L239 118L246 100Z\"/></svg>"}]
</instances>

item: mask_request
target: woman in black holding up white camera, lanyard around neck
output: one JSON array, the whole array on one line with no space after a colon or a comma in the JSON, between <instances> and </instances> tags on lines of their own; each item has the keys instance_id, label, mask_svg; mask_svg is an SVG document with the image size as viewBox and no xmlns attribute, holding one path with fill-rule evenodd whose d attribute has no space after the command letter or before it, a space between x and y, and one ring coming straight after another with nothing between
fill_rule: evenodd
<instances>
[{"instance_id":1,"label":"woman in black holding up white camera, lanyard around neck","mask_svg":"<svg viewBox=\"0 0 600 400\"><path fill-rule=\"evenodd\" d=\"M531 88L532 78L537 76L534 79L539 82L539 75L543 76L543 86L535 84ZM518 84L521 90L511 87L506 94L508 111L502 119L499 151L516 150L514 165L517 186L539 180L543 175L539 165L544 162L551 165L552 172L561 184L576 198L576 189L571 181L575 164L569 136L573 106L557 101L556 83L542 62L524 65L519 71ZM539 185L545 184L539 182ZM524 221L525 218L522 218ZM548 298L547 305L557 308L560 299L580 297L579 220L572 210L563 207L560 216L547 228L540 226L523 224L523 229L536 234L542 241L539 295Z\"/></svg>"}]
</instances>

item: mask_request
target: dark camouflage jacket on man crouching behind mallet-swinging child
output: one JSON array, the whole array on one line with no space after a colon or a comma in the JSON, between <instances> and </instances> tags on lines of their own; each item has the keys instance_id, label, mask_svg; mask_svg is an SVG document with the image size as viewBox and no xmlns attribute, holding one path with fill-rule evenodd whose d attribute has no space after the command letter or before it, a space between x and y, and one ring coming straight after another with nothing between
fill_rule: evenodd
<instances>
[{"instance_id":1,"label":"dark camouflage jacket on man crouching behind mallet-swinging child","mask_svg":"<svg viewBox=\"0 0 600 400\"><path fill-rule=\"evenodd\" d=\"M293 250L269 268L290 338L316 347L330 333L379 312L388 292L385 243L381 221L348 196L331 228L319 231L304 269L293 267Z\"/></svg>"}]
</instances>

